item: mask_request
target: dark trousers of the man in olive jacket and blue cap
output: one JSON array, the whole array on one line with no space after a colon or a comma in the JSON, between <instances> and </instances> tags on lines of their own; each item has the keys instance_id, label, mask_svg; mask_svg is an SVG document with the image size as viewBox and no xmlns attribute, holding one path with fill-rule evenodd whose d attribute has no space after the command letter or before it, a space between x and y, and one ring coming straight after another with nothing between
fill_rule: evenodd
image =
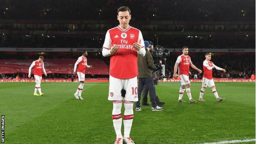
<instances>
[{"instance_id":1,"label":"dark trousers of the man in olive jacket and blue cap","mask_svg":"<svg viewBox=\"0 0 256 144\"><path fill-rule=\"evenodd\" d=\"M155 89L155 84L153 82L152 77L147 77L147 78L139 78L139 84L138 84L138 101L136 102L136 108L140 108L140 97L141 97L141 92L143 90L144 85L147 87L149 91L149 98L151 101L151 105L153 108L156 108L156 89Z\"/></svg>"}]
</instances>

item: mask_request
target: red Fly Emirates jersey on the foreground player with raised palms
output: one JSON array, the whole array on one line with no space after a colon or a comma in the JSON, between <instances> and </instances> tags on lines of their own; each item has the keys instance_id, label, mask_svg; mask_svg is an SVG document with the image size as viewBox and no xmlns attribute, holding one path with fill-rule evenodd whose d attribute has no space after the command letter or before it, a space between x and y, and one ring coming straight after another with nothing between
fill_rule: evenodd
<instances>
[{"instance_id":1,"label":"red Fly Emirates jersey on the foreground player with raised palms","mask_svg":"<svg viewBox=\"0 0 256 144\"><path fill-rule=\"evenodd\" d=\"M141 40L141 41L140 41ZM119 45L119 50L110 55L110 67L109 75L119 79L130 79L138 75L138 63L137 56L138 52L133 48L134 43L139 43L143 51L144 40L139 29L128 27L123 30L119 26L109 29L105 42L103 44L103 49L110 49L110 44L112 46Z\"/></svg>"}]
</instances>

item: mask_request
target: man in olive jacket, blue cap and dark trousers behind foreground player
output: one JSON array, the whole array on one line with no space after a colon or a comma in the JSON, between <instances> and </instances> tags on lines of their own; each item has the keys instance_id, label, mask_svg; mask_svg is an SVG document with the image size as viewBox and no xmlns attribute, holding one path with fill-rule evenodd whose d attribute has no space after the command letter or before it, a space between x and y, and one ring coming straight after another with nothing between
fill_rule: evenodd
<instances>
[{"instance_id":1,"label":"man in olive jacket, blue cap and dark trousers behind foreground player","mask_svg":"<svg viewBox=\"0 0 256 144\"><path fill-rule=\"evenodd\" d=\"M156 89L155 84L152 78L152 70L155 68L154 60L152 55L150 54L149 50L149 43L148 41L144 41L145 49L146 49L146 55L143 57L140 54L138 54L138 78L139 78L139 84L138 84L138 101L136 102L136 108L135 111L141 111L140 108L140 96L141 92L143 90L143 86L146 85L149 91L149 97L151 101L152 111L161 111L164 108L161 108L157 106L156 104Z\"/></svg>"}]
</instances>

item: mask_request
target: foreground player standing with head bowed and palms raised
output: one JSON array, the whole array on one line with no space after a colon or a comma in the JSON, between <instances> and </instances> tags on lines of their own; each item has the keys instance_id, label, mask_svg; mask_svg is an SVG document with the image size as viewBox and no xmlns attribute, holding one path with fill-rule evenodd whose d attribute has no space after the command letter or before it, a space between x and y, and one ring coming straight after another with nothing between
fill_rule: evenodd
<instances>
[{"instance_id":1,"label":"foreground player standing with head bowed and palms raised","mask_svg":"<svg viewBox=\"0 0 256 144\"><path fill-rule=\"evenodd\" d=\"M144 40L139 29L129 26L131 10L122 6L117 10L117 27L109 29L103 44L102 55L110 56L108 100L113 101L112 119L116 132L115 144L134 144L130 138L133 120L133 102L138 101L137 53L145 56ZM122 92L121 92L122 91ZM126 92L126 94L124 94ZM124 100L124 137L122 101Z\"/></svg>"}]
</instances>

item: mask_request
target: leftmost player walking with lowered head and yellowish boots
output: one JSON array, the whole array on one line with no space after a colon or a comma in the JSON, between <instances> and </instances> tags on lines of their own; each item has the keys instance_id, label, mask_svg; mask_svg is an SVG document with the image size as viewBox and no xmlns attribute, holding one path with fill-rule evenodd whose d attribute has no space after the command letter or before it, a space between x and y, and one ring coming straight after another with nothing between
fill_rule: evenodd
<instances>
[{"instance_id":1,"label":"leftmost player walking with lowered head and yellowish boots","mask_svg":"<svg viewBox=\"0 0 256 144\"><path fill-rule=\"evenodd\" d=\"M44 76L47 76L46 71L44 69L44 57L39 56L38 60L32 62L28 69L28 78L31 76L31 69L33 68L34 76L36 79L36 86L34 91L34 96L42 96L44 93L41 92L41 81L42 81L42 71L44 72ZM37 94L37 90L39 94Z\"/></svg>"}]
</instances>

